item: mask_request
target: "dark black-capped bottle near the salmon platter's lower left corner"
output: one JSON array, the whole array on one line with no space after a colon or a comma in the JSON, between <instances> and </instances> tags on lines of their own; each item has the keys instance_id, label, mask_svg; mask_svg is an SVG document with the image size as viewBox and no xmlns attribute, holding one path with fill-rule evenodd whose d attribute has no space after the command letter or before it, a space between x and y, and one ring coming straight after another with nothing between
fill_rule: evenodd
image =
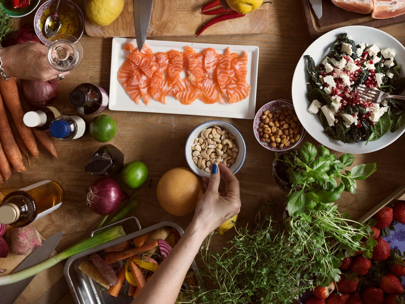
<instances>
[{"instance_id":1,"label":"dark black-capped bottle near the salmon platter's lower left corner","mask_svg":"<svg viewBox=\"0 0 405 304\"><path fill-rule=\"evenodd\" d=\"M107 92L92 83L82 83L70 93L70 103L81 114L98 114L108 105Z\"/></svg>"}]
</instances>

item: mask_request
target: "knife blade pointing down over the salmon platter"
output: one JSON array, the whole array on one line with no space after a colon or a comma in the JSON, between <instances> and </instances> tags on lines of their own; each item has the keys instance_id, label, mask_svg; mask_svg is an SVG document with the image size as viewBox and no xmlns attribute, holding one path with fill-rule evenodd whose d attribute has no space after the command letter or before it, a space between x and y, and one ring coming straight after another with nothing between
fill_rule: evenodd
<instances>
[{"instance_id":1,"label":"knife blade pointing down over the salmon platter","mask_svg":"<svg viewBox=\"0 0 405 304\"><path fill-rule=\"evenodd\" d=\"M134 0L134 25L138 50L141 51L149 30L153 0Z\"/></svg>"}]
</instances>

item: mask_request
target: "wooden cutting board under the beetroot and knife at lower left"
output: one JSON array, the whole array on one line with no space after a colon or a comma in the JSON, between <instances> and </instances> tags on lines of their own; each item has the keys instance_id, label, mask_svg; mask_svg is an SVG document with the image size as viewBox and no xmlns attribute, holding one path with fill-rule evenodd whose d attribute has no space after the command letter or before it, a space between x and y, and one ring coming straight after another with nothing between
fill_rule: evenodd
<instances>
[{"instance_id":1,"label":"wooden cutting board under the beetroot and knife at lower left","mask_svg":"<svg viewBox=\"0 0 405 304\"><path fill-rule=\"evenodd\" d=\"M4 198L4 195L0 193L0 201ZM10 226L7 227L8 229ZM43 242L45 239L36 231L38 239L40 242ZM55 250L51 256L57 254ZM9 252L6 258L0 258L0 268L7 269L6 272L0 274L4 276L6 274L11 274L15 268L27 257L28 255L15 255L14 253ZM17 300L13 304L33 304L35 303L45 292L53 286L60 278L63 277L63 265L58 263L47 270L44 270L38 273L28 284L26 289L19 295ZM60 296L63 294L61 293ZM1 303L1 299L0 299ZM47 303L51 304L51 303Z\"/></svg>"}]
</instances>

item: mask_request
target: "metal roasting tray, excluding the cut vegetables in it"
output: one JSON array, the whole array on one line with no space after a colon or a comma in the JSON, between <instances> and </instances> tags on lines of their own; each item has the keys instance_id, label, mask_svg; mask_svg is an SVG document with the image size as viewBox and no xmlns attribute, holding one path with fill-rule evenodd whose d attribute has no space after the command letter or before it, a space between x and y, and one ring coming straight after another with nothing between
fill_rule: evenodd
<instances>
[{"instance_id":1,"label":"metal roasting tray, excluding the cut vegetables in it","mask_svg":"<svg viewBox=\"0 0 405 304\"><path fill-rule=\"evenodd\" d=\"M150 227L141 229L141 225L139 224L139 221L137 218L134 216L126 218L122 221L118 221L117 223L121 223L123 221L127 221L129 219L134 219L138 225L139 230L133 233L130 233L128 235L124 235L121 238L118 238L116 240L113 240L111 242L107 242L105 244L102 244L100 246L94 247L89 250L85 250L81 253L78 253L77 255L73 255L66 261L65 267L64 267L64 276L66 278L66 282L68 283L68 287L70 289L70 292L72 293L73 300L75 301L76 304L130 304L134 299L132 296L128 295L122 295L125 290L128 290L129 288L129 283L126 282L120 291L120 295L115 298L111 296L108 292L107 289L103 288L103 290L100 290L99 286L94 280L92 280L89 276L84 274L81 270L77 268L77 265L84 260L87 259L87 256L95 253L97 251L100 251L104 248L107 248L109 246L113 246L115 244L124 242L126 240L130 240L132 238L135 238L138 235L142 235L144 233L148 233L149 231L156 230L161 227L171 227L177 230L180 236L183 235L184 231L181 229L181 227L173 222L162 222L158 223L155 225L152 225ZM116 225L117 223L114 223L113 225ZM108 226L106 226L108 227ZM103 227L102 229L105 229L106 227ZM102 230L98 229L98 230ZM94 235L94 233L98 230L95 230L91 233L91 236ZM111 264L113 265L113 264ZM121 262L122 265L122 262ZM200 279L200 275L198 272L197 264L196 261L194 260L193 263L191 264L191 269L194 271L194 275L196 276L197 280Z\"/></svg>"}]
</instances>

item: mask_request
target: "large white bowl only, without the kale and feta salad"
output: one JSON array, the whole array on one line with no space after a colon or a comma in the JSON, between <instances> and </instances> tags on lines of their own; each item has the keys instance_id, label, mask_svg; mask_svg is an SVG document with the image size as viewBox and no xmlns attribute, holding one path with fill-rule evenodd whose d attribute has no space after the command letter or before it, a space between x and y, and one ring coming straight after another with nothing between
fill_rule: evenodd
<instances>
[{"instance_id":1,"label":"large white bowl only, without the kale and feta salad","mask_svg":"<svg viewBox=\"0 0 405 304\"><path fill-rule=\"evenodd\" d=\"M337 40L337 37L347 32L347 36L351 37L356 44L360 42L368 43L370 46L375 44L380 49L391 47L396 51L395 61L401 64L402 69L398 79L405 77L405 47L394 37L369 26L345 26L343 28L337 28L327 32L315 40L304 52L304 55L309 55L315 61L315 65L320 64L330 54L329 47ZM315 140L322 143L324 146L343 153L362 154L377 151L398 139L405 131L405 127L396 131L395 133L388 132L380 139L376 141L361 141L355 143L343 143L335 139L330 138L325 132L324 128L316 114L308 112L310 102L307 99L307 81L309 81L309 74L307 71L307 62L301 56L296 66L294 77L292 79L292 102L294 103L294 109L297 113L301 124L303 124L305 130ZM404 93L401 93L404 95Z\"/></svg>"}]
</instances>

